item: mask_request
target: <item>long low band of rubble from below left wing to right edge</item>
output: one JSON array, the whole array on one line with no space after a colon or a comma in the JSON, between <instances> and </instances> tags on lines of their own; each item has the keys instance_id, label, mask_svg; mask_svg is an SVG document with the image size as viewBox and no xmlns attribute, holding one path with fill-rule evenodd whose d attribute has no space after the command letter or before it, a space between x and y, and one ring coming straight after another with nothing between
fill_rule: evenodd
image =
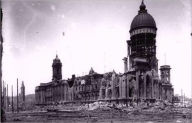
<instances>
[{"instance_id":1,"label":"long low band of rubble from below left wing to right edge","mask_svg":"<svg viewBox=\"0 0 192 123\"><path fill-rule=\"evenodd\" d=\"M57 105L36 108L36 110L42 112L46 109L58 109L59 111L101 111L101 112L125 112L126 114L162 114L162 113L176 113L185 114L192 111L191 109L175 107L168 101L156 101L155 103L149 102L132 102L129 104L115 104L109 102L94 102L89 104L79 105Z\"/></svg>"}]
</instances>

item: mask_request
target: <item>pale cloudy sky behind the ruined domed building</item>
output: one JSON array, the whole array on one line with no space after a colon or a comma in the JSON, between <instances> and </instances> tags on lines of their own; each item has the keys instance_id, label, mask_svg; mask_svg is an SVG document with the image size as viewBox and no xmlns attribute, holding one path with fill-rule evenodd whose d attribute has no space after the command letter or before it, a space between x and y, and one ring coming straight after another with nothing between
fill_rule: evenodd
<instances>
[{"instance_id":1,"label":"pale cloudy sky behind the ruined domed building","mask_svg":"<svg viewBox=\"0 0 192 123\"><path fill-rule=\"evenodd\" d=\"M26 94L52 79L56 53L63 79L123 72L131 21L141 0L3 0L3 80ZM145 0L157 24L159 66L171 66L175 93L191 95L190 0ZM9 89L9 95L11 94ZM15 93L16 94L16 93Z\"/></svg>"}]
</instances>

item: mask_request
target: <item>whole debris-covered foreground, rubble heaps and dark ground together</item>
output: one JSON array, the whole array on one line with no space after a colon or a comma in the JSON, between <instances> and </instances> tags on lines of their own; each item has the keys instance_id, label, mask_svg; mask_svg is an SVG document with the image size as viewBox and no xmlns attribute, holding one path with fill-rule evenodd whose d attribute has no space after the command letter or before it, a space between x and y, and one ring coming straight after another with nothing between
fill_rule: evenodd
<instances>
[{"instance_id":1,"label":"whole debris-covered foreground, rubble heaps and dark ground together","mask_svg":"<svg viewBox=\"0 0 192 123\"><path fill-rule=\"evenodd\" d=\"M136 104L135 104L136 105ZM33 111L7 113L7 121L192 121L192 108L173 107L163 103L152 103L148 107L137 107L95 102L85 105L37 107Z\"/></svg>"}]
</instances>

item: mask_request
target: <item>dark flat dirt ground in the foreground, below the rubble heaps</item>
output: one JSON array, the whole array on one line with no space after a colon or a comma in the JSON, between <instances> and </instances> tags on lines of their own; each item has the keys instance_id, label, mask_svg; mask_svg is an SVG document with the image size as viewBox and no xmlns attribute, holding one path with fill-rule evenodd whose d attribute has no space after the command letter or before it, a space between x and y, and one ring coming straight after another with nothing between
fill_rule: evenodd
<instances>
[{"instance_id":1,"label":"dark flat dirt ground in the foreground, below the rubble heaps","mask_svg":"<svg viewBox=\"0 0 192 123\"><path fill-rule=\"evenodd\" d=\"M189 108L167 108L167 109L118 109L97 108L95 110L73 110L73 111L28 111L19 113L6 113L6 121L18 122L192 122L192 109Z\"/></svg>"}]
</instances>

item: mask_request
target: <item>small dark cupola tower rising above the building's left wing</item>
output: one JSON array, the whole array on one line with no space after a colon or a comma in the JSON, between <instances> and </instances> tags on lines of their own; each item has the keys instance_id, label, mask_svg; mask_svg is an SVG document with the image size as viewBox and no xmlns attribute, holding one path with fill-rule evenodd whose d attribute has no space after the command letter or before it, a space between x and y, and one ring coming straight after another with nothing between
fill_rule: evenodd
<instances>
[{"instance_id":1,"label":"small dark cupola tower rising above the building's left wing","mask_svg":"<svg viewBox=\"0 0 192 123\"><path fill-rule=\"evenodd\" d=\"M53 64L52 64L52 68L53 68L53 77L52 80L53 81L58 81L62 79L62 63L60 61L60 59L58 58L58 55L56 55L56 58L53 59Z\"/></svg>"}]
</instances>

